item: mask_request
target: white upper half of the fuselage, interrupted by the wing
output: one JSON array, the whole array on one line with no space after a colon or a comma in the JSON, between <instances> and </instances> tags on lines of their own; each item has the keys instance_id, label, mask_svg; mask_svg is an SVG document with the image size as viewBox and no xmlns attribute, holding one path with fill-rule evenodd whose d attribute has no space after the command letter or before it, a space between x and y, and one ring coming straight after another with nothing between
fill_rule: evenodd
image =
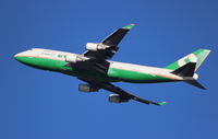
<instances>
[{"instance_id":1,"label":"white upper half of the fuselage, interrupted by the wing","mask_svg":"<svg viewBox=\"0 0 218 139\"><path fill-rule=\"evenodd\" d=\"M37 58L45 58L45 59L53 59L53 60L60 60L65 61L66 55L73 55L76 54L72 53L65 53L65 51L59 51L59 50L50 50L50 49L41 49L41 48L33 48L31 50L26 50L23 53L20 53L16 56L23 56L23 57L37 57ZM81 55L78 55L81 56ZM88 59L88 58L87 58ZM183 80L182 77L179 77L177 74L171 73L172 70L164 69L164 68L155 68L155 67L148 67L148 66L140 66L140 65L133 65L133 63L126 63L126 62L118 62L118 61L109 61L110 67L113 69L120 69L120 70L128 70L128 71L134 71L145 74L152 74L152 76L160 76L166 77L173 80Z\"/></svg>"}]
</instances>

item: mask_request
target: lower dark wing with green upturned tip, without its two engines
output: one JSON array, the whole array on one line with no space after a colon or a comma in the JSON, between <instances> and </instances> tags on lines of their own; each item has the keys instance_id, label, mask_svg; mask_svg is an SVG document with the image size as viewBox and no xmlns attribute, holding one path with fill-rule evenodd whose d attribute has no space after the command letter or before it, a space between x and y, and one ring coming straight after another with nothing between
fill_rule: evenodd
<instances>
[{"instance_id":1,"label":"lower dark wing with green upturned tip, without its two engines","mask_svg":"<svg viewBox=\"0 0 218 139\"><path fill-rule=\"evenodd\" d=\"M134 101L141 102L141 103L144 103L144 104L153 104L153 105L164 105L167 103L167 102L156 103L156 102L152 102L152 101L138 97L138 96L133 95L109 82L95 82L95 81L90 81L90 80L86 80L86 79L80 79L80 80L88 82L89 84L93 84L94 86L98 86L99 89L104 89L104 90L110 91L112 93L119 94L122 100L126 100L126 101L134 100Z\"/></svg>"}]
</instances>

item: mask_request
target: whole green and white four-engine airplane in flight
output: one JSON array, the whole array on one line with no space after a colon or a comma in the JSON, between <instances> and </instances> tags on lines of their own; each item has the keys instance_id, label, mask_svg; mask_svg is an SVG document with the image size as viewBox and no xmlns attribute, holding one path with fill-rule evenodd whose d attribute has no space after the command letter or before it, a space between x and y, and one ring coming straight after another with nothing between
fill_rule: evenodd
<instances>
[{"instance_id":1,"label":"whole green and white four-engine airplane in flight","mask_svg":"<svg viewBox=\"0 0 218 139\"><path fill-rule=\"evenodd\" d=\"M209 49L197 49L164 68L108 60L118 51L119 43L133 26L135 24L121 27L100 43L87 43L85 46L86 51L80 55L51 49L32 48L16 54L14 58L36 69L76 77L86 82L85 84L78 85L78 91L81 92L98 92L100 89L112 92L109 95L109 102L111 103L123 103L130 100L154 105L164 105L167 103L156 103L142 99L116 86L111 82L158 83L183 81L205 90L196 81L198 74L195 72L209 55Z\"/></svg>"}]
</instances>

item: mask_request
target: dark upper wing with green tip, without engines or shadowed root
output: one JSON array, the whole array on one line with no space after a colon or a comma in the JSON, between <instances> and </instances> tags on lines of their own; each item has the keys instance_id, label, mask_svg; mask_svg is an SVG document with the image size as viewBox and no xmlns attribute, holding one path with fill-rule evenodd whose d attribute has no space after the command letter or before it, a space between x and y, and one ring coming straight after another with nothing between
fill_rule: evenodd
<instances>
[{"instance_id":1,"label":"dark upper wing with green tip, without engines or shadowed root","mask_svg":"<svg viewBox=\"0 0 218 139\"><path fill-rule=\"evenodd\" d=\"M112 56L118 51L118 44L122 40L125 34L133 27L135 24L130 24L124 27L121 27L113 32L111 35L106 37L99 45L107 46L105 49L86 50L83 55L88 58L94 58L98 61L112 58Z\"/></svg>"}]
</instances>

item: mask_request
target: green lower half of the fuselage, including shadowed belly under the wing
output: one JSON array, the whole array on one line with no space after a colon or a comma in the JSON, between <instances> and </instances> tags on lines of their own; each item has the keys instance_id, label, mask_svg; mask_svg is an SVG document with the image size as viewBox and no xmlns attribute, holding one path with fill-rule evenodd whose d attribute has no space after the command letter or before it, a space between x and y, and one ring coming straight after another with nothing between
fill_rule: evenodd
<instances>
[{"instance_id":1,"label":"green lower half of the fuselage, including shadowed belly under the wing","mask_svg":"<svg viewBox=\"0 0 218 139\"><path fill-rule=\"evenodd\" d=\"M86 69L76 70L72 67L66 67L65 65L68 62L59 59L20 56L16 57L16 60L37 69L50 70L73 77L94 79L105 82L123 81L123 82L134 82L134 83L153 83L153 82L174 81L172 79L161 76L142 73L137 71L124 70L118 68L109 68L107 74L101 74L98 73L97 71L92 71Z\"/></svg>"}]
</instances>

